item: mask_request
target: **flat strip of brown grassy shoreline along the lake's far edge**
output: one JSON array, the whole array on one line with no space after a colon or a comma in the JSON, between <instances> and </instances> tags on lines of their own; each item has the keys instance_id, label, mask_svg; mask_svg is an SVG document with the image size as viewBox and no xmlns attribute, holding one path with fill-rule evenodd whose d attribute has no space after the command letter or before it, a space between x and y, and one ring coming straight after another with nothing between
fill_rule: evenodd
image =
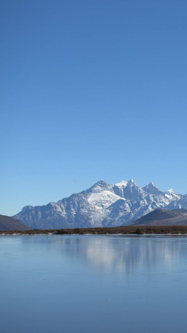
<instances>
[{"instance_id":1,"label":"flat strip of brown grassy shoreline along the lake's far edge","mask_svg":"<svg viewBox=\"0 0 187 333\"><path fill-rule=\"evenodd\" d=\"M110 228L75 228L75 229L33 229L33 230L6 230L0 231L0 235L37 235L37 234L187 234L187 225L155 225L155 226L121 226Z\"/></svg>"}]
</instances>

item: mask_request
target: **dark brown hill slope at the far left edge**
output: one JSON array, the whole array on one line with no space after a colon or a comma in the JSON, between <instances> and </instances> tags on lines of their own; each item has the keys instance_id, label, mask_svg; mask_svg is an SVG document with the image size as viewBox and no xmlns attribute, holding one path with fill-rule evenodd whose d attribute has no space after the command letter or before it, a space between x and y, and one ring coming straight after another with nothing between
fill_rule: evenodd
<instances>
[{"instance_id":1,"label":"dark brown hill slope at the far left edge","mask_svg":"<svg viewBox=\"0 0 187 333\"><path fill-rule=\"evenodd\" d=\"M6 215L0 215L0 231L6 230L31 230L32 228L19 220Z\"/></svg>"}]
</instances>

